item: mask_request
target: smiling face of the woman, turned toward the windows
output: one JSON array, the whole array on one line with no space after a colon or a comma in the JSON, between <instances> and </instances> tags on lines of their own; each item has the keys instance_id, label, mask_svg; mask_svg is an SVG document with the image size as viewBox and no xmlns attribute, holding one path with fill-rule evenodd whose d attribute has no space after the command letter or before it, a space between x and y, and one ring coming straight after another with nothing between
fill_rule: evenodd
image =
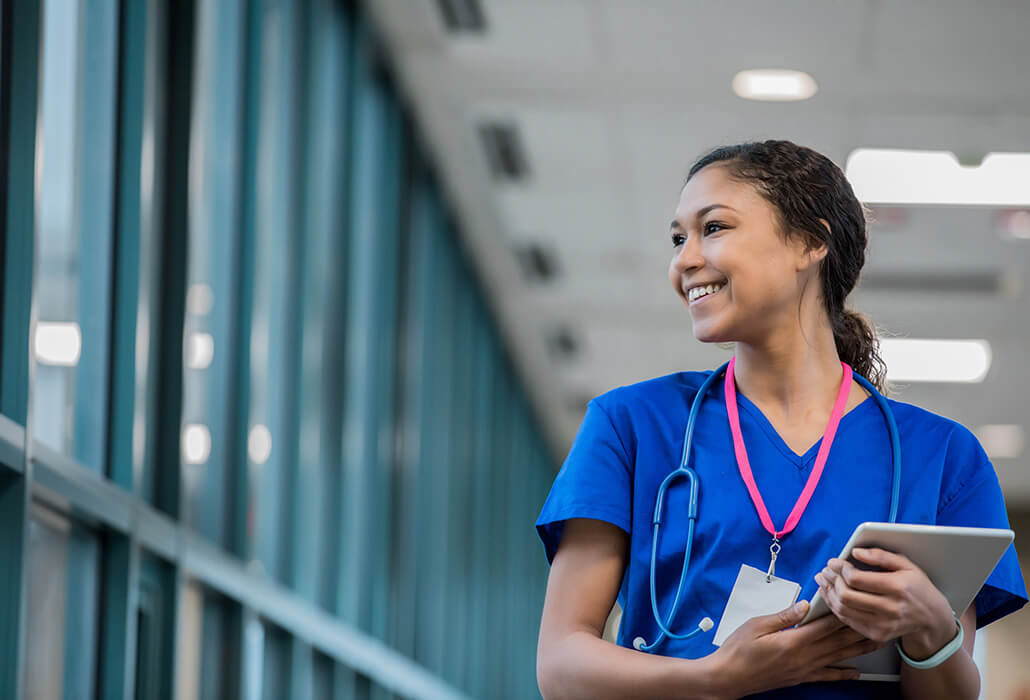
<instances>
[{"instance_id":1,"label":"smiling face of the woman, turned toward the windows","mask_svg":"<svg viewBox=\"0 0 1030 700\"><path fill-rule=\"evenodd\" d=\"M780 233L776 209L747 182L714 164L683 187L672 223L673 288L690 310L702 343L755 342L797 323L809 278L818 290L818 252ZM719 287L694 297L694 287Z\"/></svg>"}]
</instances>

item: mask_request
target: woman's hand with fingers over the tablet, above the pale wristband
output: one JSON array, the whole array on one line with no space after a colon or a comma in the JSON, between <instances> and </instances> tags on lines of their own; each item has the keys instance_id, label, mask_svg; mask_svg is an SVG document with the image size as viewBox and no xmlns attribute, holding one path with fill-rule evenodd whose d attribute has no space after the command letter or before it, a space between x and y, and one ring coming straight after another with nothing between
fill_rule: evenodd
<instances>
[{"instance_id":1,"label":"woman's hand with fingers over the tablet, above the pale wristband","mask_svg":"<svg viewBox=\"0 0 1030 700\"><path fill-rule=\"evenodd\" d=\"M882 570L830 559L816 574L821 595L840 622L877 641L900 638L914 659L933 656L955 636L948 599L907 557L876 548L856 548L852 555Z\"/></svg>"}]
</instances>

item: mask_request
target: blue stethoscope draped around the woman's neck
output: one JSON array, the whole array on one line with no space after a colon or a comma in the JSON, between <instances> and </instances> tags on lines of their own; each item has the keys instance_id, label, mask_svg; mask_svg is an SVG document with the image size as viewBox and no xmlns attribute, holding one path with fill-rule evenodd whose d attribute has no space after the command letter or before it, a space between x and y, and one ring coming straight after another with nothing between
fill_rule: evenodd
<instances>
[{"instance_id":1,"label":"blue stethoscope draped around the woman's neck","mask_svg":"<svg viewBox=\"0 0 1030 700\"><path fill-rule=\"evenodd\" d=\"M726 362L721 367L713 372L705 383L701 384L700 388L697 390L697 394L694 396L693 404L690 406L690 415L687 418L687 430L683 436L683 454L680 457L680 466L675 469L672 474L665 477L664 481L661 482L661 486L658 487L658 496L654 503L654 517L651 520L652 524L652 535L651 535L651 612L654 615L654 621L658 625L658 629L661 630L661 634L652 643L648 644L644 637L637 637L633 639L633 649L640 652L651 653L657 649L658 644L664 641L665 637L671 639L691 639L702 632L708 632L715 626L712 622L712 618L705 618L699 623L697 627L690 630L686 634L676 634L670 627L673 624L673 619L676 617L676 611L680 606L680 598L683 594L683 586L687 581L687 569L690 568L690 549L694 540L694 521L697 519L697 490L699 479L697 474L688 466L688 461L690 459L690 445L694 437L694 421L697 419L697 412L700 409L701 400L708 390L715 384L719 377L726 372L726 367L729 366L729 362ZM890 406L887 405L887 399L881 394L877 387L872 386L864 377L860 376L858 373L853 373L852 377L858 382L872 399L880 407L880 411L884 414L884 420L887 422L887 431L891 436L891 463L894 467L893 483L891 484L891 510L890 510L890 520L889 522L894 522L897 519L898 511L898 494L901 491L901 441L898 437L898 426L894 421L894 413L891 411ZM668 487L677 479L686 479L687 484L690 486L690 502L687 506L687 547L683 552L683 569L680 572L680 585L676 589L676 597L673 598L673 609L668 612L668 618L662 622L661 615L658 614L658 596L655 592L655 561L658 559L658 530L661 527L661 511L662 505L665 500L665 492Z\"/></svg>"}]
</instances>

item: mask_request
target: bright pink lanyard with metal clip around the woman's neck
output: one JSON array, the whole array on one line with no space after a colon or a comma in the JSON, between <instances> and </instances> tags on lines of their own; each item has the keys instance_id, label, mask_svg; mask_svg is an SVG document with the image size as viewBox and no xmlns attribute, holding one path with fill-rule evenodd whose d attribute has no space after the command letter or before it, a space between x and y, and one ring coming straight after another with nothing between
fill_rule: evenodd
<instances>
[{"instance_id":1,"label":"bright pink lanyard with metal clip around the woman's neck","mask_svg":"<svg viewBox=\"0 0 1030 700\"><path fill-rule=\"evenodd\" d=\"M804 509L809 506L809 501L812 500L812 494L815 493L816 486L819 485L820 477L823 476L823 467L826 466L826 459L829 457L833 437L836 436L837 425L840 424L845 407L848 405L848 395L851 393L852 371L847 362L840 362L840 365L844 367L840 391L837 392L836 404L833 405L829 425L826 426L826 432L823 434L823 443L819 446L816 464L812 468L812 474L809 476L809 481L804 485L801 495L797 497L797 502L794 503L794 510L790 512L787 522L784 523L783 529L777 530L772 524L772 519L769 517L769 512L765 507L765 501L762 500L762 494L758 490L758 485L755 484L755 477L751 471L751 463L748 461L748 450L744 446L744 435L741 432L741 417L736 411L736 385L733 383L733 366L735 363L736 357L732 357L729 360L729 366L726 367L726 414L729 416L729 429L733 433L733 452L736 454L736 466L741 470L741 478L744 479L744 484L748 487L748 493L751 494L751 500L758 512L758 518L762 521L762 525L766 531L772 535L772 545L769 548L772 557L766 575L766 579L768 579L776 570L776 558L780 553L780 537L788 534L797 526L797 523L801 520L801 515L804 513Z\"/></svg>"}]
</instances>

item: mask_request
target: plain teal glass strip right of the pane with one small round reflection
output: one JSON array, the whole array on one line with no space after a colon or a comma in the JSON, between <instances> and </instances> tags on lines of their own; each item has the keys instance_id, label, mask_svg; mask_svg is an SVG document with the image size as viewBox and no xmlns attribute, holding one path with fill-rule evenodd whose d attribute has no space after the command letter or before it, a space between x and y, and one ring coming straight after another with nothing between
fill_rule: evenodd
<instances>
[{"instance_id":1,"label":"plain teal glass strip right of the pane with one small round reflection","mask_svg":"<svg viewBox=\"0 0 1030 700\"><path fill-rule=\"evenodd\" d=\"M346 18L333 3L307 3L304 97L304 233L300 278L303 331L297 370L300 432L296 453L290 585L332 609L334 551L327 522L337 517L344 324L343 270L347 168L343 101L348 80Z\"/></svg>"}]
</instances>

